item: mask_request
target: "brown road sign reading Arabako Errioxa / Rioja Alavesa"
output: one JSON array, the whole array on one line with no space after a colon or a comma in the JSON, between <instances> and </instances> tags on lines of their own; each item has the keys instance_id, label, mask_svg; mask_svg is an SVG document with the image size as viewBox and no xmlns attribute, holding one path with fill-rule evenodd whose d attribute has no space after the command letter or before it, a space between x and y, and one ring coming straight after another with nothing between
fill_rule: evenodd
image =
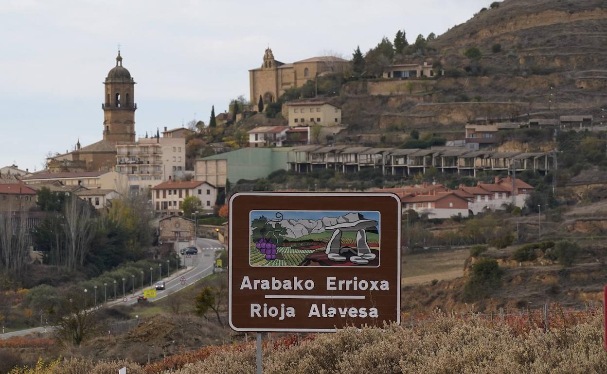
<instances>
[{"instance_id":1,"label":"brown road sign reading Arabako Errioxa / Rioja Alavesa","mask_svg":"<svg viewBox=\"0 0 607 374\"><path fill-rule=\"evenodd\" d=\"M331 332L400 322L398 196L240 192L229 212L232 329Z\"/></svg>"}]
</instances>

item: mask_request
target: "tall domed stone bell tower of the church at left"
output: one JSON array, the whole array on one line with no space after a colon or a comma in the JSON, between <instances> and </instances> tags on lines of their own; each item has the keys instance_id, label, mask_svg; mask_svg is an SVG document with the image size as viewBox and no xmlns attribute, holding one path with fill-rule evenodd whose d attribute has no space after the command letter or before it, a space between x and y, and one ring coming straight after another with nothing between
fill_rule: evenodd
<instances>
[{"instance_id":1,"label":"tall domed stone bell tower of the church at left","mask_svg":"<svg viewBox=\"0 0 607 374\"><path fill-rule=\"evenodd\" d=\"M107 73L103 108L103 139L114 142L135 141L135 81L122 66L120 50L116 66Z\"/></svg>"}]
</instances>

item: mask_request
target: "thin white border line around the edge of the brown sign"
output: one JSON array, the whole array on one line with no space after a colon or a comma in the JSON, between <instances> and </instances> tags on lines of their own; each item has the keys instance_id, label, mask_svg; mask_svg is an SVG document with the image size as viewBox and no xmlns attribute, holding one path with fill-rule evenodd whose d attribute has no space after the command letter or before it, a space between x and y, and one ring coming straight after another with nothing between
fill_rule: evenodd
<instances>
[{"instance_id":1,"label":"thin white border line around the edge of the brown sign","mask_svg":"<svg viewBox=\"0 0 607 374\"><path fill-rule=\"evenodd\" d=\"M238 196L340 196L340 197L347 197L347 196L361 196L361 197L371 197L371 196L389 196L391 198L394 198L397 202L398 202L398 238L396 239L396 245L397 245L397 250L396 250L396 256L398 258L398 272L397 272L397 276L398 278L396 279L396 284L398 284L398 293L396 296L396 306L397 306L397 311L396 311L396 324L401 324L401 215L402 215L402 208L401 208L401 199L398 197L398 195L396 195L395 193L385 193L385 192L378 192L378 193L365 193L365 192L352 192L352 193L338 193L338 192L237 192L234 193L234 195L232 195L229 199L228 205L229 205L229 242L228 242L228 253L229 253L229 260L228 260L228 324L231 327L232 330L234 331L239 331L239 332L336 332L337 329L242 329L239 327L234 326L234 324L232 324L232 238L234 237L232 235L232 230L234 228L234 225L232 225L232 212L234 212L234 210L232 210L232 202L234 202L234 199L237 198ZM336 267L339 268L339 267ZM342 267L343 268L343 267ZM345 267L346 269L348 269L348 267Z\"/></svg>"}]
</instances>

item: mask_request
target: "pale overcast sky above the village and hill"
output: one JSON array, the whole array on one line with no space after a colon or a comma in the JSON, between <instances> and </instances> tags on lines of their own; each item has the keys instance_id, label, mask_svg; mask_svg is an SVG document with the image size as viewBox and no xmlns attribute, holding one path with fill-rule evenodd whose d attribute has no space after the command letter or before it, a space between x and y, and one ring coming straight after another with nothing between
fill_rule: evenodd
<instances>
[{"instance_id":1,"label":"pale overcast sky above the village and hill","mask_svg":"<svg viewBox=\"0 0 607 374\"><path fill-rule=\"evenodd\" d=\"M489 0L0 1L0 167L41 169L47 152L102 138L103 84L121 45L135 78L137 136L208 123L249 99L248 70L274 57L350 59L399 28L440 35Z\"/></svg>"}]
</instances>

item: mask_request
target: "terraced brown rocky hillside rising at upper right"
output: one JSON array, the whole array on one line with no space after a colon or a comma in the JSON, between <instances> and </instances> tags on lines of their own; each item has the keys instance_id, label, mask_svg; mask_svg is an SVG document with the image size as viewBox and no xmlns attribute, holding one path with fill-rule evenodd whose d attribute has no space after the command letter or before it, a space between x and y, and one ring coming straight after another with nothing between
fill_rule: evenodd
<instances>
[{"instance_id":1,"label":"terraced brown rocky hillside rising at upper right","mask_svg":"<svg viewBox=\"0 0 607 374\"><path fill-rule=\"evenodd\" d=\"M350 124L343 140L356 136L368 144L398 144L402 133L413 129L461 138L463 125L473 118L591 114L599 119L607 105L605 0L506 0L429 46L447 76L370 79L342 88L333 100ZM470 47L480 50L480 59L464 56Z\"/></svg>"}]
</instances>

